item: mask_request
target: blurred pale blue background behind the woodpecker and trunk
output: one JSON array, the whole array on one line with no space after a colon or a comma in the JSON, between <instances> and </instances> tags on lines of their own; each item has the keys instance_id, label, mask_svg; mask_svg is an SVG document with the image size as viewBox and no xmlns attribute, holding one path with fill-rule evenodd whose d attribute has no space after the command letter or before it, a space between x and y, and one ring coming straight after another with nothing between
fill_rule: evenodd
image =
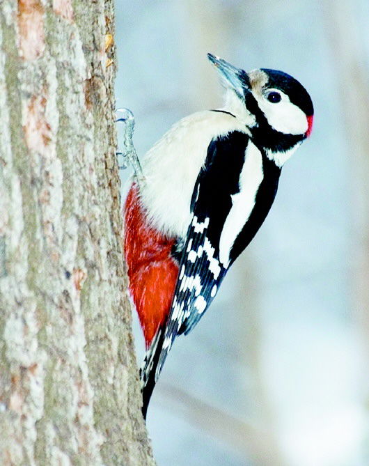
<instances>
[{"instance_id":1,"label":"blurred pale blue background behind the woodpecker and trunk","mask_svg":"<svg viewBox=\"0 0 369 466\"><path fill-rule=\"evenodd\" d=\"M159 466L369 465L368 34L368 0L116 1L116 106L141 157L221 107L207 52L288 72L315 106L265 224L167 359ZM137 325L136 343L141 364Z\"/></svg>"}]
</instances>

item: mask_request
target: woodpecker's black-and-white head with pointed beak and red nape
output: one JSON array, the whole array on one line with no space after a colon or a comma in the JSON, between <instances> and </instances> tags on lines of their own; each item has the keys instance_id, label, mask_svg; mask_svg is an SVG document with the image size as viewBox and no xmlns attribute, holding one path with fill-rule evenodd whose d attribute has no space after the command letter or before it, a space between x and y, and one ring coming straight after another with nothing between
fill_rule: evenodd
<instances>
[{"instance_id":1,"label":"woodpecker's black-and-white head with pointed beak and red nape","mask_svg":"<svg viewBox=\"0 0 369 466\"><path fill-rule=\"evenodd\" d=\"M297 79L267 68L246 72L212 54L207 57L226 88L226 111L244 121L269 158L290 155L311 134L313 102ZM283 156L279 159L285 161Z\"/></svg>"}]
</instances>

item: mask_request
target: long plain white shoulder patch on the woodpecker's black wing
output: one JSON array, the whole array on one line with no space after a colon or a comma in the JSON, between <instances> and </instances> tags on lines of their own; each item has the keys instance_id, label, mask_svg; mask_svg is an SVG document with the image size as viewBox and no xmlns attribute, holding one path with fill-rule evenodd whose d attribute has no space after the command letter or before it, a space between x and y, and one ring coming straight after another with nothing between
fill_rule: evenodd
<instances>
[{"instance_id":1,"label":"long plain white shoulder patch on the woodpecker's black wing","mask_svg":"<svg viewBox=\"0 0 369 466\"><path fill-rule=\"evenodd\" d=\"M244 166L240 173L240 192L231 196L232 208L221 231L219 259L223 267L228 267L230 251L235 239L251 215L262 178L262 155L255 144L249 141L246 147Z\"/></svg>"}]
</instances>

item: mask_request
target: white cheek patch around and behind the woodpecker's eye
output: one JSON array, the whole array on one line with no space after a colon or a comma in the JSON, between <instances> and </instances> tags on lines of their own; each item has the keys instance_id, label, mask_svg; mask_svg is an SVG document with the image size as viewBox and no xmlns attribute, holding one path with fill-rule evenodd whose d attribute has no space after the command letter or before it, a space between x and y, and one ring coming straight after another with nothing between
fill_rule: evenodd
<instances>
[{"instance_id":1,"label":"white cheek patch around and behind the woodpecker's eye","mask_svg":"<svg viewBox=\"0 0 369 466\"><path fill-rule=\"evenodd\" d=\"M254 95L269 125L284 134L305 134L308 130L308 120L304 111L292 104L287 95L278 92L283 95L278 103L269 102L264 96Z\"/></svg>"}]
</instances>

